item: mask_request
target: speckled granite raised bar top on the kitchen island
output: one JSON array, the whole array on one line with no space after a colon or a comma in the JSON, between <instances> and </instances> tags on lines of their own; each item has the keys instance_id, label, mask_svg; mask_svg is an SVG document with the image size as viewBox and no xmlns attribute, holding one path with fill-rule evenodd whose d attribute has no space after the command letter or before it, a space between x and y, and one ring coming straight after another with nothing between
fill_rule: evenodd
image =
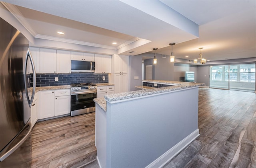
<instances>
[{"instance_id":1,"label":"speckled granite raised bar top on the kitchen island","mask_svg":"<svg viewBox=\"0 0 256 168\"><path fill-rule=\"evenodd\" d=\"M108 94L105 95L104 98L109 101L117 101L117 100L124 100L129 98L136 98L140 96L158 94L163 92L170 92L174 90L181 90L187 88L193 88L198 86L205 86L204 83L194 83L194 82L178 82L178 81L168 81L168 80L143 80L143 82L151 82L151 83L160 83L160 84L170 84L175 86L167 86L163 88L154 88L154 89L143 89L137 90L132 92L123 92L117 94Z\"/></svg>"}]
</instances>

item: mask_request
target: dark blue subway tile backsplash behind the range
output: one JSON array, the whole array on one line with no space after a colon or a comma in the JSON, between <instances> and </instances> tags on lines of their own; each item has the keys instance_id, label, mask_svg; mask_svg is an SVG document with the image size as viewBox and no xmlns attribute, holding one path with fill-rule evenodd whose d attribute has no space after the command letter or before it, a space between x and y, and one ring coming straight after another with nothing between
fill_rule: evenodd
<instances>
[{"instance_id":1,"label":"dark blue subway tile backsplash behind the range","mask_svg":"<svg viewBox=\"0 0 256 168\"><path fill-rule=\"evenodd\" d=\"M102 77L105 76L105 80ZM58 77L58 81L55 81ZM36 74L36 87L60 86L72 83L108 83L108 74L72 73L72 74ZM30 87L33 86L33 76L30 74Z\"/></svg>"}]
</instances>

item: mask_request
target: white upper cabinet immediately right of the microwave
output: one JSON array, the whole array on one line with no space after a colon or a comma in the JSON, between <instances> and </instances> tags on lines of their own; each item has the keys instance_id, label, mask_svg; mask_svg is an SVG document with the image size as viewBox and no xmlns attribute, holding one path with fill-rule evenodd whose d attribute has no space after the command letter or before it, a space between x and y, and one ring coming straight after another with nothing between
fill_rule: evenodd
<instances>
[{"instance_id":1,"label":"white upper cabinet immediately right of the microwave","mask_svg":"<svg viewBox=\"0 0 256 168\"><path fill-rule=\"evenodd\" d=\"M96 74L111 73L111 55L95 54L95 72Z\"/></svg>"}]
</instances>

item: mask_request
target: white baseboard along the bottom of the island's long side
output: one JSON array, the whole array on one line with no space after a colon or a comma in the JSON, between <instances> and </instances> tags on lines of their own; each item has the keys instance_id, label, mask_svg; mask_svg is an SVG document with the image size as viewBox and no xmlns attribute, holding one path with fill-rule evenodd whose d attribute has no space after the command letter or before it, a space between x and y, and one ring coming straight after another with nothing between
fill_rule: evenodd
<instances>
[{"instance_id":1,"label":"white baseboard along the bottom of the island's long side","mask_svg":"<svg viewBox=\"0 0 256 168\"><path fill-rule=\"evenodd\" d=\"M199 136L199 129L196 129L193 133L188 135L182 141L177 143L174 147L170 148L167 152L162 154L159 158L150 163L146 168L159 168L169 162L174 156L176 156L181 150L187 147L192 141Z\"/></svg>"}]
</instances>

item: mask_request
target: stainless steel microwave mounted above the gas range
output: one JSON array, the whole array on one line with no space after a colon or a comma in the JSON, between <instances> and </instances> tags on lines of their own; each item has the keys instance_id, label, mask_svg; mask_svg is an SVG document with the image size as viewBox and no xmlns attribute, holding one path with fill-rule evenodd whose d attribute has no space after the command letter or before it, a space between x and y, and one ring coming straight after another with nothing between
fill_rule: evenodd
<instances>
[{"instance_id":1,"label":"stainless steel microwave mounted above the gas range","mask_svg":"<svg viewBox=\"0 0 256 168\"><path fill-rule=\"evenodd\" d=\"M71 72L94 72L95 62L71 60Z\"/></svg>"}]
</instances>

